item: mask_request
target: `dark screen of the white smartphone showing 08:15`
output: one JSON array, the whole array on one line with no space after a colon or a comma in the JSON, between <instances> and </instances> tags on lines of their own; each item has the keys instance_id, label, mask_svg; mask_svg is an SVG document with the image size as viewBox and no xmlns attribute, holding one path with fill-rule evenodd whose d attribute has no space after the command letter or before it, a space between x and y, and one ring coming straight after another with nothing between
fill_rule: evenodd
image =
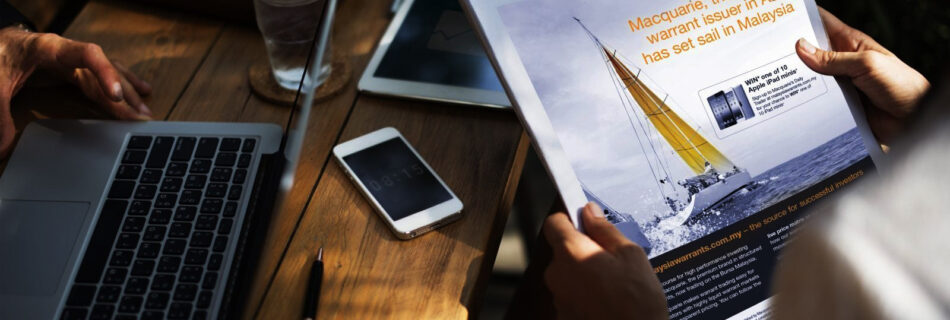
<instances>
[{"instance_id":1,"label":"dark screen of the white smartphone showing 08:15","mask_svg":"<svg viewBox=\"0 0 950 320\"><path fill-rule=\"evenodd\" d=\"M393 221L452 199L398 137L344 156L343 161Z\"/></svg>"}]
</instances>

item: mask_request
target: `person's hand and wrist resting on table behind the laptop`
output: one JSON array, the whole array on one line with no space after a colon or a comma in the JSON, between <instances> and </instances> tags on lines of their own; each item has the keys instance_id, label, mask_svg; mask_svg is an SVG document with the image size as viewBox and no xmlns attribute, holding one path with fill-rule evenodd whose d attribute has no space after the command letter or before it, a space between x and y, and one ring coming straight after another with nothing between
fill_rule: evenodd
<instances>
[{"instance_id":1,"label":"person's hand and wrist resting on table behind the laptop","mask_svg":"<svg viewBox=\"0 0 950 320\"><path fill-rule=\"evenodd\" d=\"M22 18L0 2L0 158L9 154L16 135L10 100L36 70L73 83L118 119L151 119L151 111L142 102L142 96L152 90L148 83L109 60L98 45L30 32L22 27L25 20L10 20L17 17Z\"/></svg>"}]
</instances>

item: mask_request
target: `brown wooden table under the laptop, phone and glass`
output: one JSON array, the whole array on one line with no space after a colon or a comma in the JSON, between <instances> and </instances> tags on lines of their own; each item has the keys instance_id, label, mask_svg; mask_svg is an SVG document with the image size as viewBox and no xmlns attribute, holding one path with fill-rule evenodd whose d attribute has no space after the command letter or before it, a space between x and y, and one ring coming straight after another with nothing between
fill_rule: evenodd
<instances>
[{"instance_id":1,"label":"brown wooden table under the laptop, phone and glass","mask_svg":"<svg viewBox=\"0 0 950 320\"><path fill-rule=\"evenodd\" d=\"M357 78L389 18L388 1L341 1L333 45L353 77L341 94L314 106L297 183L286 210L274 214L245 318L300 319L320 246L321 318L443 319L478 310L528 140L510 111L358 93ZM158 119L284 124L289 117L289 109L250 91L247 68L266 59L252 27L96 0L65 36L100 44L151 82L147 103ZM68 87L26 88L13 102L20 129L35 118L103 117L91 105ZM385 126L398 128L461 197L461 221L397 240L330 161L333 145Z\"/></svg>"}]
</instances>

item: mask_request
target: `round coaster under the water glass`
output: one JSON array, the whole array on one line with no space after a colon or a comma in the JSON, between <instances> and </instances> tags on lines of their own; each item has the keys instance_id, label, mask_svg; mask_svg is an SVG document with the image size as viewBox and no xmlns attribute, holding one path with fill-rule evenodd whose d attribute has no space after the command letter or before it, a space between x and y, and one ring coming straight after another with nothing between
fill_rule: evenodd
<instances>
[{"instance_id":1,"label":"round coaster under the water glass","mask_svg":"<svg viewBox=\"0 0 950 320\"><path fill-rule=\"evenodd\" d=\"M350 81L350 64L345 55L334 52L332 68L333 70L330 72L330 77L317 87L317 95L314 97L314 103L326 100L340 93L343 87L346 87L347 82ZM293 105L296 91L284 89L284 87L277 84L277 80L274 80L274 75L271 73L270 64L267 60L261 60L252 64L248 67L247 73L251 90L254 91L254 94L258 97L268 102L284 106Z\"/></svg>"}]
</instances>

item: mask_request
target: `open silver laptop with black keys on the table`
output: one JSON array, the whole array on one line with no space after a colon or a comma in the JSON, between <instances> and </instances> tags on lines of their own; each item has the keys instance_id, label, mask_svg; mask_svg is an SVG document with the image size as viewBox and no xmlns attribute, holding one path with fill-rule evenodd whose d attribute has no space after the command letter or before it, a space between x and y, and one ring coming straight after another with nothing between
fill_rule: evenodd
<instances>
[{"instance_id":1,"label":"open silver laptop with black keys on the table","mask_svg":"<svg viewBox=\"0 0 950 320\"><path fill-rule=\"evenodd\" d=\"M324 7L306 70L319 70L335 6ZM0 319L237 317L247 262L293 184L315 92L306 82L286 132L258 123L27 126L0 177Z\"/></svg>"}]
</instances>

